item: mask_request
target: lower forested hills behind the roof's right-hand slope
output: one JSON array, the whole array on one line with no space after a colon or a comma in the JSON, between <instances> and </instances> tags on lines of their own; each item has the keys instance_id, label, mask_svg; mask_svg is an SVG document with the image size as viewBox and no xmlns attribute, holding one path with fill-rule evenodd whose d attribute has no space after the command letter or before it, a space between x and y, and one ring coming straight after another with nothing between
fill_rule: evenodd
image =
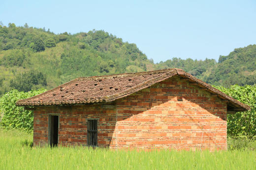
<instances>
[{"instance_id":1,"label":"lower forested hills behind the roof's right-hand slope","mask_svg":"<svg viewBox=\"0 0 256 170\"><path fill-rule=\"evenodd\" d=\"M225 87L233 84L254 85L256 83L256 45L234 49L229 55L220 56L218 62L214 59L202 61L172 58L156 64L156 67L158 69L180 68L212 85Z\"/></svg>"}]
</instances>

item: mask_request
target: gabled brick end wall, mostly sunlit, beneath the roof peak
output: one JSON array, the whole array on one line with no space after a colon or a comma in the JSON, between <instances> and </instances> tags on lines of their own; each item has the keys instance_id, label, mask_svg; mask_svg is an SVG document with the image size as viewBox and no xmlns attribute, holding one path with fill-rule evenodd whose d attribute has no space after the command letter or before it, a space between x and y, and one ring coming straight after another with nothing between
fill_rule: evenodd
<instances>
[{"instance_id":1,"label":"gabled brick end wall, mostly sunlit, beneath the roof peak","mask_svg":"<svg viewBox=\"0 0 256 170\"><path fill-rule=\"evenodd\" d=\"M226 149L226 104L178 76L118 99L117 113L118 148Z\"/></svg>"}]
</instances>

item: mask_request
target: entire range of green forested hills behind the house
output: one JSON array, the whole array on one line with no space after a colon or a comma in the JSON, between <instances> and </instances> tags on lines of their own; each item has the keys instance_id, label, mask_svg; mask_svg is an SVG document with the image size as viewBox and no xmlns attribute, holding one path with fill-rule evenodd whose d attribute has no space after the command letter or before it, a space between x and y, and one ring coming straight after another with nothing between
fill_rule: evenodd
<instances>
[{"instance_id":1,"label":"entire range of green forested hills behind the house","mask_svg":"<svg viewBox=\"0 0 256 170\"><path fill-rule=\"evenodd\" d=\"M0 25L0 95L12 88L53 88L81 76L181 68L214 84L254 84L256 45L214 59L172 58L154 64L135 44L100 31L54 34L44 28Z\"/></svg>"}]
</instances>

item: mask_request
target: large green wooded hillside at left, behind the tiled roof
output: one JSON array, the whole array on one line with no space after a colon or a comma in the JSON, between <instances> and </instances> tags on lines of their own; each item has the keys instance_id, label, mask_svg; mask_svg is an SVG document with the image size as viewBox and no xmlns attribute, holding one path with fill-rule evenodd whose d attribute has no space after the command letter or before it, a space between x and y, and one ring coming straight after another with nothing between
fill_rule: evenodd
<instances>
[{"instance_id":1,"label":"large green wooded hillside at left, behind the tiled roof","mask_svg":"<svg viewBox=\"0 0 256 170\"><path fill-rule=\"evenodd\" d=\"M0 26L0 93L50 89L81 76L146 71L135 44L104 31L56 35L25 25Z\"/></svg>"}]
</instances>

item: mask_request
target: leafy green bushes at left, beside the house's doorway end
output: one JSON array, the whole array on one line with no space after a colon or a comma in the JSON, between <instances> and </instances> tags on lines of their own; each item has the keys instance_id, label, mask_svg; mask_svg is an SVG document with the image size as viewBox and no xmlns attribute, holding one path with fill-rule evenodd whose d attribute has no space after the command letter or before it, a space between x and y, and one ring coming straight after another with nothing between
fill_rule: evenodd
<instances>
[{"instance_id":1,"label":"leafy green bushes at left, beside the house's doorway end","mask_svg":"<svg viewBox=\"0 0 256 170\"><path fill-rule=\"evenodd\" d=\"M19 99L24 99L45 92L45 89L30 92L12 90L0 97L0 127L5 129L20 129L31 131L33 129L33 113L24 110L24 107L16 106Z\"/></svg>"}]
</instances>

